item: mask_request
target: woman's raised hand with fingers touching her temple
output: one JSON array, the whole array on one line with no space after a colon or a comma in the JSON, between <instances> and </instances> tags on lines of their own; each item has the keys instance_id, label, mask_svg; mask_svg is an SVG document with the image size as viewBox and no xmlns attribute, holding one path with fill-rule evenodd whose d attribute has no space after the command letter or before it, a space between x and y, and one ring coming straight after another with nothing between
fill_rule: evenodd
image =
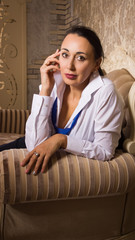
<instances>
[{"instance_id":1,"label":"woman's raised hand with fingers touching her temple","mask_svg":"<svg viewBox=\"0 0 135 240\"><path fill-rule=\"evenodd\" d=\"M43 65L40 68L42 84L40 95L42 96L50 96L51 94L51 91L55 83L53 74L56 71L60 71L58 60L59 55L60 51L57 50L54 54L49 56L44 61Z\"/></svg>"}]
</instances>

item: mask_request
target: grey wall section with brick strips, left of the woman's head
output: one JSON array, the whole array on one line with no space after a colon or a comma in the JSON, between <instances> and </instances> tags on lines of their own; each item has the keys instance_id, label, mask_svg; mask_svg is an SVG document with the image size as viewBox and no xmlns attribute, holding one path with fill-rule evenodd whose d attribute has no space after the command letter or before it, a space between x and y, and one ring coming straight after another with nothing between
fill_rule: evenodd
<instances>
[{"instance_id":1,"label":"grey wall section with brick strips, left of the woman's head","mask_svg":"<svg viewBox=\"0 0 135 240\"><path fill-rule=\"evenodd\" d=\"M38 93L40 66L59 48L66 30L78 24L71 17L71 0L29 0L27 3L28 108L33 93Z\"/></svg>"}]
</instances>

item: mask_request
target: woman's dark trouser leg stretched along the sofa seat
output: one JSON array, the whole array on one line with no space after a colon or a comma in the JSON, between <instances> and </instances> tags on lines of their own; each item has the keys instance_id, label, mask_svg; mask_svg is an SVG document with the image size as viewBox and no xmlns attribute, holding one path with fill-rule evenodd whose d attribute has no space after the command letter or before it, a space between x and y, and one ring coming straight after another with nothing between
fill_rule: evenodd
<instances>
[{"instance_id":1,"label":"woman's dark trouser leg stretched along the sofa seat","mask_svg":"<svg viewBox=\"0 0 135 240\"><path fill-rule=\"evenodd\" d=\"M1 145L0 152L2 152L3 150L13 149L13 148L26 148L25 136L21 138L17 138L13 142Z\"/></svg>"}]
</instances>

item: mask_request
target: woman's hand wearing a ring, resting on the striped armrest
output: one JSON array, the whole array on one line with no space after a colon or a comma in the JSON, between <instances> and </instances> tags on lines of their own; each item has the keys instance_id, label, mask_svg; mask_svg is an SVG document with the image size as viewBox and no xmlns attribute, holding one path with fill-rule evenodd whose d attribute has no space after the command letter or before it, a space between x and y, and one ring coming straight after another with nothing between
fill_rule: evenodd
<instances>
[{"instance_id":1,"label":"woman's hand wearing a ring, resting on the striped armrest","mask_svg":"<svg viewBox=\"0 0 135 240\"><path fill-rule=\"evenodd\" d=\"M29 152L22 161L21 166L24 167L27 165L26 173L33 171L33 174L36 175L39 170L43 173L50 157L57 150L60 148L64 149L66 146L66 135L55 134Z\"/></svg>"}]
</instances>

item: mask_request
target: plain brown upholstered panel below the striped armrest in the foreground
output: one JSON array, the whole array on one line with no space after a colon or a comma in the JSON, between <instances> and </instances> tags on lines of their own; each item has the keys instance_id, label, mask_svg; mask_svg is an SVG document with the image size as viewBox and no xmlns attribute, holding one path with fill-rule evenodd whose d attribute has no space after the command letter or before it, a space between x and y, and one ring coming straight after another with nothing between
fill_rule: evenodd
<instances>
[{"instance_id":1,"label":"plain brown upholstered panel below the striped armrest in the foreground","mask_svg":"<svg viewBox=\"0 0 135 240\"><path fill-rule=\"evenodd\" d=\"M4 240L116 240L124 205L125 195L6 204Z\"/></svg>"}]
</instances>

